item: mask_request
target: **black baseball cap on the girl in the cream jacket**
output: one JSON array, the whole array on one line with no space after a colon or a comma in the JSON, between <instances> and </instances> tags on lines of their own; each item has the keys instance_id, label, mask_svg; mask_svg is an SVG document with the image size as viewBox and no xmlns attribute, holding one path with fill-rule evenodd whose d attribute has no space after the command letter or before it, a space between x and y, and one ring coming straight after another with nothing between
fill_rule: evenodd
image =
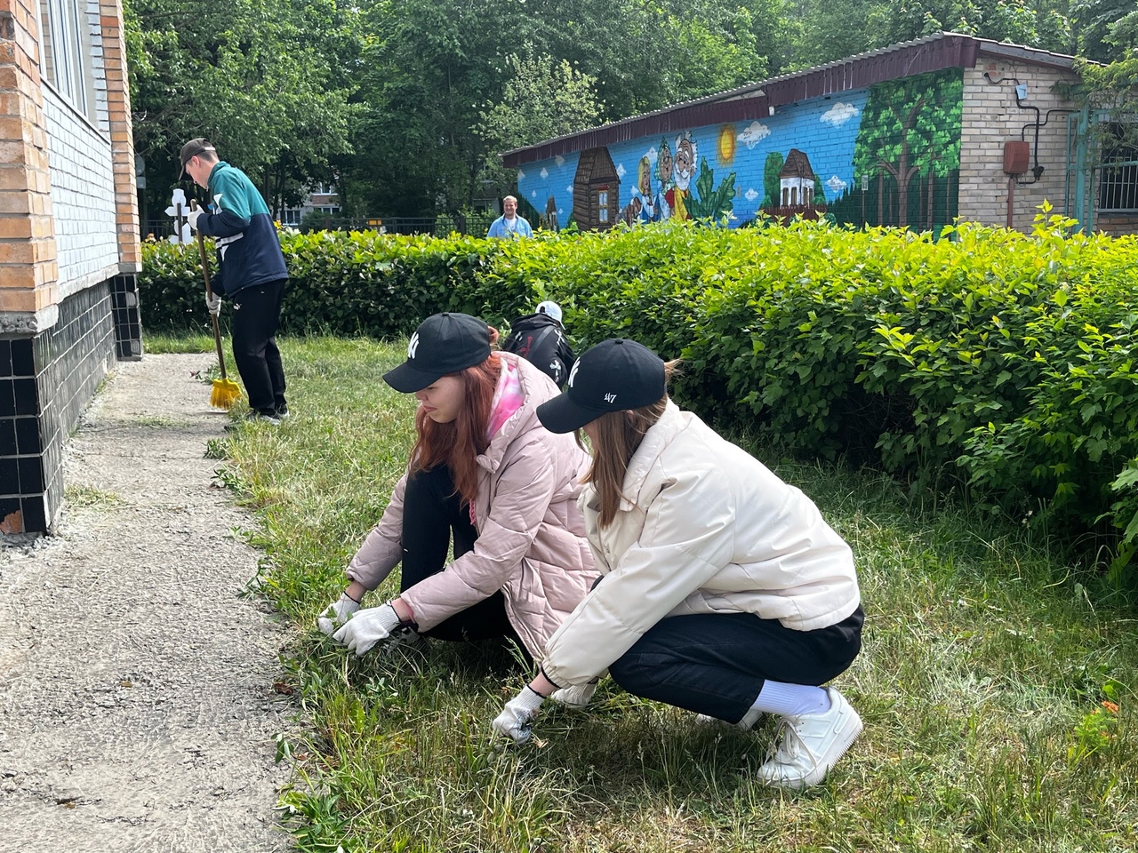
<instances>
[{"instance_id":1,"label":"black baseball cap on the girl in the cream jacket","mask_svg":"<svg viewBox=\"0 0 1138 853\"><path fill-rule=\"evenodd\" d=\"M564 392L537 407L550 432L572 432L607 412L655 403L667 392L663 359L625 338L587 349L569 372Z\"/></svg>"}]
</instances>

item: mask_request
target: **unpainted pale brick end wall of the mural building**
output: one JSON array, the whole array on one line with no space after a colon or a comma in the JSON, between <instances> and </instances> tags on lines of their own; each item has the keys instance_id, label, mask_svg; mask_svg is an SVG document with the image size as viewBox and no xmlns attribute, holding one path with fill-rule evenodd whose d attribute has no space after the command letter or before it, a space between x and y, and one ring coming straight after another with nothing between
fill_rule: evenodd
<instances>
[{"instance_id":1,"label":"unpainted pale brick end wall of the mural building","mask_svg":"<svg viewBox=\"0 0 1138 853\"><path fill-rule=\"evenodd\" d=\"M986 76L987 74L987 76ZM964 108L960 121L962 220L986 225L1008 224L1008 175L1004 174L1004 143L1026 140L1031 147L1029 169L1038 159L1042 173L1021 175L1011 187L1011 226L1030 231L1038 207L1046 200L1064 213L1066 180L1066 116L1074 103L1052 91L1061 81L1075 82L1069 71L1028 63L992 61L981 57L964 69ZM1026 97L1016 102L1016 85ZM1036 109L1039 143L1036 144Z\"/></svg>"}]
</instances>

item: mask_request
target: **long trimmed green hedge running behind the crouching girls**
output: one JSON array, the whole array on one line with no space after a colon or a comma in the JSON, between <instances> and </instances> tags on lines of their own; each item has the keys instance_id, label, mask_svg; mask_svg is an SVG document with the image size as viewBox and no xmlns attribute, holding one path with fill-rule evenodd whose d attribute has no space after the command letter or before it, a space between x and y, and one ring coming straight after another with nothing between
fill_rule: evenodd
<instances>
[{"instance_id":1,"label":"long trimmed green hedge running behind the crouching girls","mask_svg":"<svg viewBox=\"0 0 1138 853\"><path fill-rule=\"evenodd\" d=\"M1037 216L1032 234L824 222L668 223L526 241L282 234L284 332L405 336L541 299L578 351L608 337L683 355L676 396L725 428L960 486L1064 533L1138 541L1138 239ZM195 247L151 243L151 329L206 323ZM1123 538L1124 537L1124 538Z\"/></svg>"}]
</instances>

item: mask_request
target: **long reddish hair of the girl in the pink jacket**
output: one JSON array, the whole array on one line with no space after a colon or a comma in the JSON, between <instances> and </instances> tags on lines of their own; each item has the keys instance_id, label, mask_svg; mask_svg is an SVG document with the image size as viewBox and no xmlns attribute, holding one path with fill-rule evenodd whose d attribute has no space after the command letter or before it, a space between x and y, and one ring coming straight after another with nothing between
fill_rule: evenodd
<instances>
[{"instance_id":1,"label":"long reddish hair of the girl in the pink jacket","mask_svg":"<svg viewBox=\"0 0 1138 853\"><path fill-rule=\"evenodd\" d=\"M490 343L496 343L497 338L497 330L490 326ZM485 362L451 374L462 380L462 405L459 416L450 423L436 423L421 407L415 412L417 438L411 448L411 473L446 465L463 505L473 502L478 494L476 457L486 453L490 445L486 431L501 373L502 359L497 353L490 353Z\"/></svg>"}]
</instances>

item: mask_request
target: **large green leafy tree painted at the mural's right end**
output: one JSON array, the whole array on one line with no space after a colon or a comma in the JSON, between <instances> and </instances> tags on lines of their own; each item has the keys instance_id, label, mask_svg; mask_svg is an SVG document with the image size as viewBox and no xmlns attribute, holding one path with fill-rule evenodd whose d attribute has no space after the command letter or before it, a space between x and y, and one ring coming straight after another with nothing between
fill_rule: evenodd
<instances>
[{"instance_id":1,"label":"large green leafy tree painted at the mural's right end","mask_svg":"<svg viewBox=\"0 0 1138 853\"><path fill-rule=\"evenodd\" d=\"M959 69L921 74L869 89L853 147L853 173L889 174L897 183L897 224L908 224L909 188L921 174L960 165Z\"/></svg>"}]
</instances>

